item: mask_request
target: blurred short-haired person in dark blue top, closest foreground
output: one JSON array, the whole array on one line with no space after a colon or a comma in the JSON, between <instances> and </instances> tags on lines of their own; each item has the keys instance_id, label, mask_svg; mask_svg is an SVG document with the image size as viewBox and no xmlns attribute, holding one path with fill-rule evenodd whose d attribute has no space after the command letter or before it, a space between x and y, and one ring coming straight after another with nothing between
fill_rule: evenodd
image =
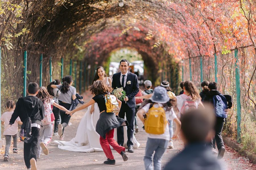
<instances>
[{"instance_id":1,"label":"blurred short-haired person in dark blue top, closest foreground","mask_svg":"<svg viewBox=\"0 0 256 170\"><path fill-rule=\"evenodd\" d=\"M213 109L186 111L180 121L185 148L171 158L164 170L224 170L206 146L214 134Z\"/></svg>"}]
</instances>

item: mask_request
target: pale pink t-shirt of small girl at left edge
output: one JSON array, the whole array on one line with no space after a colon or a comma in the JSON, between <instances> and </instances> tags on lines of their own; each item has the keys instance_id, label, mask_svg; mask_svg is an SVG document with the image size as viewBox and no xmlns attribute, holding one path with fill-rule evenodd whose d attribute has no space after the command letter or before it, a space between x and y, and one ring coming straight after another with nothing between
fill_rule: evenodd
<instances>
[{"instance_id":1,"label":"pale pink t-shirt of small girl at left edge","mask_svg":"<svg viewBox=\"0 0 256 170\"><path fill-rule=\"evenodd\" d=\"M7 125L9 125L9 122L11 120L11 117L13 115L13 112L5 112L2 114L1 116L1 121L5 122L5 128L7 127ZM20 117L18 117L14 124L12 124L11 127L9 127L8 129L6 129L3 133L3 135L15 135L18 133L18 121L20 121Z\"/></svg>"}]
</instances>

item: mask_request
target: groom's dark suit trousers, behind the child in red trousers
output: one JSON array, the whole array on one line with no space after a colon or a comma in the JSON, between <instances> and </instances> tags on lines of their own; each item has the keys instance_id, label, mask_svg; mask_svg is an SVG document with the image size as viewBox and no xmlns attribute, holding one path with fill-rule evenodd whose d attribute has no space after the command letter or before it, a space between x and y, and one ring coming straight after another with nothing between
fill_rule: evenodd
<instances>
[{"instance_id":1,"label":"groom's dark suit trousers, behind the child in red trousers","mask_svg":"<svg viewBox=\"0 0 256 170\"><path fill-rule=\"evenodd\" d=\"M124 119L126 112L126 120L129 123L127 126L127 146L133 146L133 126L134 126L134 117L135 117L135 107L130 108L125 102L122 102L122 106L118 116ZM123 126L117 128L117 143L118 145L123 145Z\"/></svg>"}]
</instances>

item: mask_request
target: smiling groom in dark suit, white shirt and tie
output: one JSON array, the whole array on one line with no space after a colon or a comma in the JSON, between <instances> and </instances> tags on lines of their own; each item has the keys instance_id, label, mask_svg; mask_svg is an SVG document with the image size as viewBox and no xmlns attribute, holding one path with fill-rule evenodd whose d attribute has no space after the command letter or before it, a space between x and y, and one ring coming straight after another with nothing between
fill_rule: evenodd
<instances>
[{"instance_id":1,"label":"smiling groom in dark suit, white shirt and tie","mask_svg":"<svg viewBox=\"0 0 256 170\"><path fill-rule=\"evenodd\" d=\"M120 118L125 117L129 123L127 126L127 146L128 152L134 152L133 150L133 125L134 125L134 117L135 117L135 95L139 92L139 84L137 75L128 72L130 63L126 59L122 59L120 61L119 68L121 72L115 73L113 75L112 88L120 88L123 87L123 90L126 92L126 96L124 101L122 102L122 106L118 116ZM126 101L126 103L125 103ZM117 143L120 146L123 146L123 126L117 128Z\"/></svg>"}]
</instances>

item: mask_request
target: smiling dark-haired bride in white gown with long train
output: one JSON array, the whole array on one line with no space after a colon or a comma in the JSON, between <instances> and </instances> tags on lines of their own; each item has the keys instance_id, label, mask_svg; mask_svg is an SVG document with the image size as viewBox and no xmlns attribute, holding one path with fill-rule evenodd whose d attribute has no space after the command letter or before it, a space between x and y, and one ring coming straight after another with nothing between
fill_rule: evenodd
<instances>
[{"instance_id":1,"label":"smiling dark-haired bride in white gown with long train","mask_svg":"<svg viewBox=\"0 0 256 170\"><path fill-rule=\"evenodd\" d=\"M93 82L101 80L108 86L111 86L112 80L107 77L103 67L96 69L96 74ZM74 152L103 152L100 146L100 135L96 132L96 123L100 117L100 110L97 103L88 107L87 112L81 119L76 136L71 141L53 141L54 144L58 145L58 148L63 150L69 150ZM126 130L125 130L126 129ZM127 127L124 127L124 141L127 141ZM115 129L114 139L117 141L117 132ZM138 148L140 143L136 140L133 135L133 148ZM123 145L127 148L126 143Z\"/></svg>"}]
</instances>

